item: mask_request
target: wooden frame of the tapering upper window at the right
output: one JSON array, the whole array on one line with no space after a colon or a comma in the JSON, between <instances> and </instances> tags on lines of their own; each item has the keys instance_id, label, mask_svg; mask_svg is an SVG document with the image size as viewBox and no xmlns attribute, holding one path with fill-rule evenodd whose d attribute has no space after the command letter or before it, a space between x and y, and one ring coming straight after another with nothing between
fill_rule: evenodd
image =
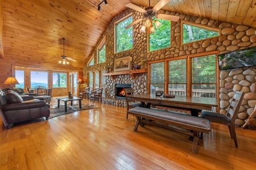
<instances>
[{"instance_id":1,"label":"wooden frame of the tapering upper window at the right","mask_svg":"<svg viewBox=\"0 0 256 170\"><path fill-rule=\"evenodd\" d=\"M218 36L214 36L214 37L209 37L207 39L201 39L201 40L196 40L196 41L191 41L191 42L186 42L186 43L183 43L183 24L188 24L188 25L192 25L194 27L199 27L199 28L202 28L202 29L207 29L208 31L214 31L214 32L218 32ZM197 23L191 23L191 22L187 22L187 21L184 21L184 20L181 20L180 22L180 44L181 45L184 45L184 44L190 44L190 43L194 43L194 42L199 42L199 41L205 41L205 40L208 40L208 39L214 39L214 38L218 38L221 36L221 29L220 28L215 28L215 27L209 27L207 25L201 25L201 24L197 24Z\"/></svg>"}]
</instances>

